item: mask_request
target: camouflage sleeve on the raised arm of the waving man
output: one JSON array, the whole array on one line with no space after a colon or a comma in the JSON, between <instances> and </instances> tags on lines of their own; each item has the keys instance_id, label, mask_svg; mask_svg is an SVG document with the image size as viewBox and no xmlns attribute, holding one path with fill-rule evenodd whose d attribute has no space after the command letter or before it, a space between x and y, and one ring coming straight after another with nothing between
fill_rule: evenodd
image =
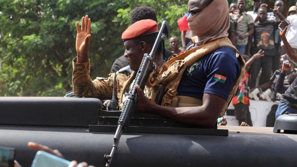
<instances>
[{"instance_id":1,"label":"camouflage sleeve on the raised arm of the waving man","mask_svg":"<svg viewBox=\"0 0 297 167\"><path fill-rule=\"evenodd\" d=\"M72 85L75 96L94 97L101 100L112 98L114 74L110 74L108 78L97 77L92 81L90 77L90 61L76 63L75 58L73 59L72 66Z\"/></svg>"}]
</instances>

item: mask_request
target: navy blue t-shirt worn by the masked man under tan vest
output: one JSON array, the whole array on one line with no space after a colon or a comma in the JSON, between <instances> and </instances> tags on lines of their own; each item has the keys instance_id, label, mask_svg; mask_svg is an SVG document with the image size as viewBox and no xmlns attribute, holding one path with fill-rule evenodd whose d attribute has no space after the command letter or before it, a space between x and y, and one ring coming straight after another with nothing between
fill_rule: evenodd
<instances>
[{"instance_id":1,"label":"navy blue t-shirt worn by the masked man under tan vest","mask_svg":"<svg viewBox=\"0 0 297 167\"><path fill-rule=\"evenodd\" d=\"M204 93L211 93L227 101L239 72L235 51L230 47L221 47L187 68L177 95L202 99Z\"/></svg>"}]
</instances>

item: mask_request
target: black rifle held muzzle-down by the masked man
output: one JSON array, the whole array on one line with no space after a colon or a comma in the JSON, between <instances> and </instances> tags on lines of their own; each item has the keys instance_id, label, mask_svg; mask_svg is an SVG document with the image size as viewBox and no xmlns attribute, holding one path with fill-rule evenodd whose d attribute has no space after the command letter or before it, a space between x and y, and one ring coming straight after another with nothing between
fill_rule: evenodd
<instances>
[{"instance_id":1,"label":"black rifle held muzzle-down by the masked man","mask_svg":"<svg viewBox=\"0 0 297 167\"><path fill-rule=\"evenodd\" d=\"M121 116L118 120L118 127L117 127L116 133L114 135L114 144L112 146L110 154L104 155L104 159L106 161L105 166L107 166L107 167L110 165L110 162L112 160L114 152L117 149L122 132L123 132L124 128L127 128L129 126L132 113L134 112L135 108L137 107L138 94L136 91L136 85L139 85L139 87L142 90L144 89L145 83L146 83L147 79L149 78L149 74L156 68L153 63L153 57L159 47L160 42L168 36L169 36L169 26L168 26L167 21L163 21L151 53L144 54L142 62L140 64L137 74L135 76L135 79L132 82L133 85L129 92L128 99L126 100L126 102L124 104L124 107L121 111L122 112ZM162 44L164 47L163 42L164 41L162 41Z\"/></svg>"}]
</instances>

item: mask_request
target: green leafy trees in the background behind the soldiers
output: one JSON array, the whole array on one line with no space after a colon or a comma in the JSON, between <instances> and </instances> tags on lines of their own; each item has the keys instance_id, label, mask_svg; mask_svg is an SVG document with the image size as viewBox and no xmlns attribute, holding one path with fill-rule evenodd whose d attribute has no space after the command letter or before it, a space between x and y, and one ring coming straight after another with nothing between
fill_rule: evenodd
<instances>
[{"instance_id":1,"label":"green leafy trees in the background behind the soldiers","mask_svg":"<svg viewBox=\"0 0 297 167\"><path fill-rule=\"evenodd\" d=\"M247 0L247 10L252 10L251 2ZM265 2L273 6L273 1ZM284 2L287 10L295 0ZM63 96L70 91L75 23L84 15L92 20L91 77L106 76L124 52L120 37L130 12L144 5L156 10L159 23L169 22L171 36L180 38L176 20L187 12L187 1L0 0L0 96Z\"/></svg>"}]
</instances>

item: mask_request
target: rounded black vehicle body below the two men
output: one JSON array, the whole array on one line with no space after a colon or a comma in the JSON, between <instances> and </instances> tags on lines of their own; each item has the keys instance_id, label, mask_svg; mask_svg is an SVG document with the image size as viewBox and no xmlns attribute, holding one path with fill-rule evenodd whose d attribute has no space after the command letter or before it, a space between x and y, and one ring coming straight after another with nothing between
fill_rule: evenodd
<instances>
[{"instance_id":1,"label":"rounded black vehicle body below the two men","mask_svg":"<svg viewBox=\"0 0 297 167\"><path fill-rule=\"evenodd\" d=\"M126 133L111 166L296 166L297 135L256 128L233 127L228 136ZM16 160L24 167L36 153L27 147L29 141L58 149L67 160L104 166L103 155L110 152L114 133L0 126L0 136L0 146L16 148Z\"/></svg>"}]
</instances>

